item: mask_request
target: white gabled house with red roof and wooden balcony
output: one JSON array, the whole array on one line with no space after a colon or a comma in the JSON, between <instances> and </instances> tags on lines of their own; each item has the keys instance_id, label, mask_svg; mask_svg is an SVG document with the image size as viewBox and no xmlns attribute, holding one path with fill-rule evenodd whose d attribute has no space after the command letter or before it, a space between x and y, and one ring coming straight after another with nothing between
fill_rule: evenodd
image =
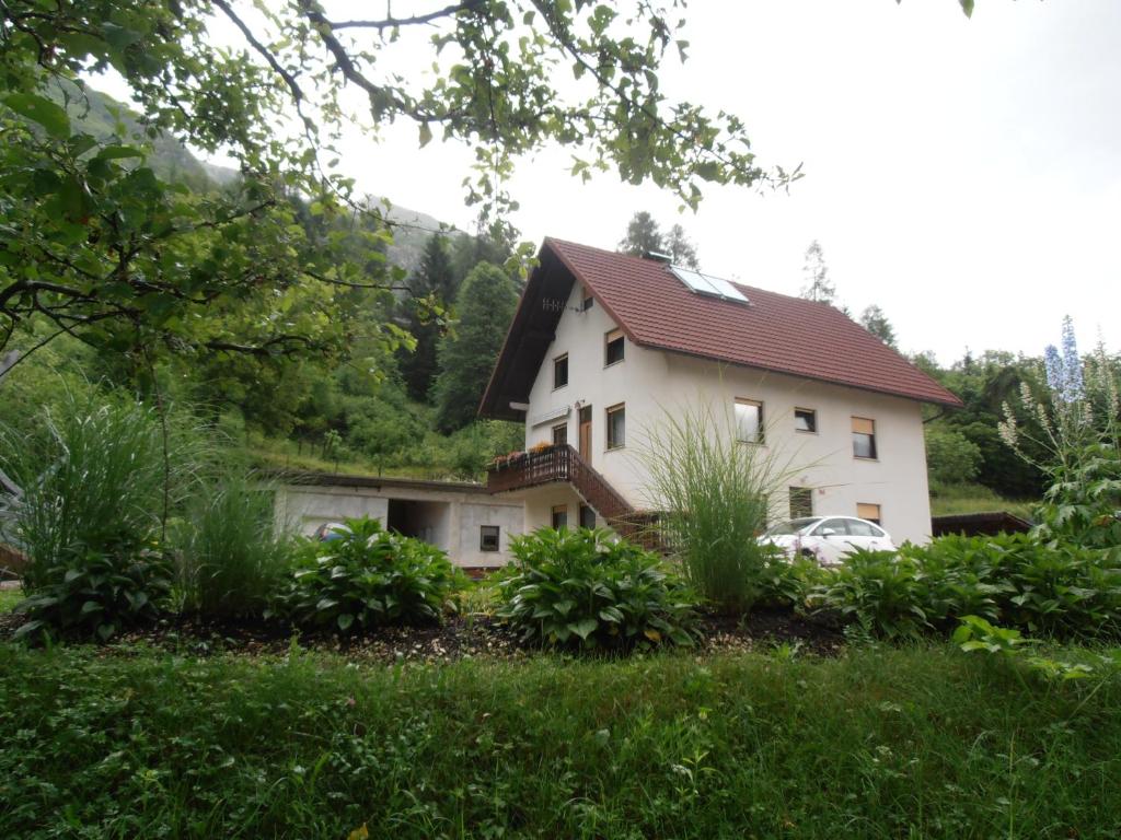
<instances>
[{"instance_id":1,"label":"white gabled house with red roof and wooden balcony","mask_svg":"<svg viewBox=\"0 0 1121 840\"><path fill-rule=\"evenodd\" d=\"M539 259L480 407L524 421L538 450L488 482L524 504L526 531L649 508L637 442L706 405L744 446L806 465L784 514L859 515L897 541L928 539L920 409L961 403L847 316L554 239Z\"/></svg>"}]
</instances>

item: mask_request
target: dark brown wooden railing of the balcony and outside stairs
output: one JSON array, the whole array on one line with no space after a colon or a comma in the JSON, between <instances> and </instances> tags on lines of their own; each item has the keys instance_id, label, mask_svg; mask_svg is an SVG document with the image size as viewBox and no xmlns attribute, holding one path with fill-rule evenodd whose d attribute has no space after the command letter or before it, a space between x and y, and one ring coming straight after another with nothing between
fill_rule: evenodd
<instances>
[{"instance_id":1,"label":"dark brown wooden railing of the balcony and outside stairs","mask_svg":"<svg viewBox=\"0 0 1121 840\"><path fill-rule=\"evenodd\" d=\"M663 548L656 531L650 528L651 516L636 511L606 478L568 445L526 452L492 467L487 474L487 489L491 493L508 493L556 483L572 485L621 535L647 548Z\"/></svg>"}]
</instances>

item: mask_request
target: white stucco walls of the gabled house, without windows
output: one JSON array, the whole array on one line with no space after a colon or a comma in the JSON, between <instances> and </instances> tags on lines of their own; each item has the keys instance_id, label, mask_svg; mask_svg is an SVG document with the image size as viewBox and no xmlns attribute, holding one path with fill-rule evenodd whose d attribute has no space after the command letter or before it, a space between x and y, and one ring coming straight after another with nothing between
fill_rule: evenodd
<instances>
[{"instance_id":1,"label":"white stucco walls of the gabled house, without windows","mask_svg":"<svg viewBox=\"0 0 1121 840\"><path fill-rule=\"evenodd\" d=\"M604 336L615 324L599 304L589 311L573 311L583 297L576 283L531 389L527 448L549 441L553 427L560 422L567 422L568 442L577 446L578 412L574 407L577 402L590 404L592 466L636 507L651 507L648 470L638 457L650 427L663 422L667 412L680 416L686 407L706 404L730 430L735 398L758 400L763 403L765 446L778 461L796 468L791 479L782 484L813 487L815 514L855 515L858 503L878 504L881 522L897 542L929 539L930 503L919 403L646 349L629 340L626 360L605 367ZM553 360L563 353L568 354L568 384L554 390ZM605 409L620 402L627 407L627 446L609 451ZM573 407L566 420L532 424L535 418L566 405ZM795 407L817 412L816 433L795 431ZM853 416L876 421L876 460L853 457ZM788 511L781 497L785 494L785 487L777 493L778 515ZM527 503L527 529L547 521L548 506Z\"/></svg>"}]
</instances>

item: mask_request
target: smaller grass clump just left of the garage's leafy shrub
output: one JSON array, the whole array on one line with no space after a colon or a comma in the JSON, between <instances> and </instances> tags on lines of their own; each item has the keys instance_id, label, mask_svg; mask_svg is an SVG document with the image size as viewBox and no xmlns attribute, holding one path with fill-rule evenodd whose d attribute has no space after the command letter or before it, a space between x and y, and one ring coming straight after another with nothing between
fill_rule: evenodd
<instances>
[{"instance_id":1,"label":"smaller grass clump just left of the garage's leafy shrub","mask_svg":"<svg viewBox=\"0 0 1121 840\"><path fill-rule=\"evenodd\" d=\"M202 482L178 529L183 607L204 616L261 615L291 562L267 480L232 472Z\"/></svg>"}]
</instances>

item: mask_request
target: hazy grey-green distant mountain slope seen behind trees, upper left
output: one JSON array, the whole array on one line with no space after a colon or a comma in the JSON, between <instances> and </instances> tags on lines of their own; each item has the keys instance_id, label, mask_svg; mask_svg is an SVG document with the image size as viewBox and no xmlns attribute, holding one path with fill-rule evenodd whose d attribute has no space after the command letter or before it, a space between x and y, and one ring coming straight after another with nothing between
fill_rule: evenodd
<instances>
[{"instance_id":1,"label":"hazy grey-green distant mountain slope seen behind trees, upper left","mask_svg":"<svg viewBox=\"0 0 1121 840\"><path fill-rule=\"evenodd\" d=\"M66 96L71 100L67 111L72 122L94 137L108 139L114 133L145 134L138 114L105 93L89 85L84 91L80 91L77 86L67 86ZM54 97L62 104L63 92L54 88ZM175 138L159 134L148 142L152 147L148 165L164 180L185 184L195 190L205 190L238 178L235 169L201 160ZM374 196L370 200L380 203L381 198ZM442 230L441 222L434 216L398 205L389 209L388 217L395 226L393 243L386 255L390 263L413 273L420 264L426 240L433 232ZM451 239L463 235L465 234L448 233Z\"/></svg>"}]
</instances>

